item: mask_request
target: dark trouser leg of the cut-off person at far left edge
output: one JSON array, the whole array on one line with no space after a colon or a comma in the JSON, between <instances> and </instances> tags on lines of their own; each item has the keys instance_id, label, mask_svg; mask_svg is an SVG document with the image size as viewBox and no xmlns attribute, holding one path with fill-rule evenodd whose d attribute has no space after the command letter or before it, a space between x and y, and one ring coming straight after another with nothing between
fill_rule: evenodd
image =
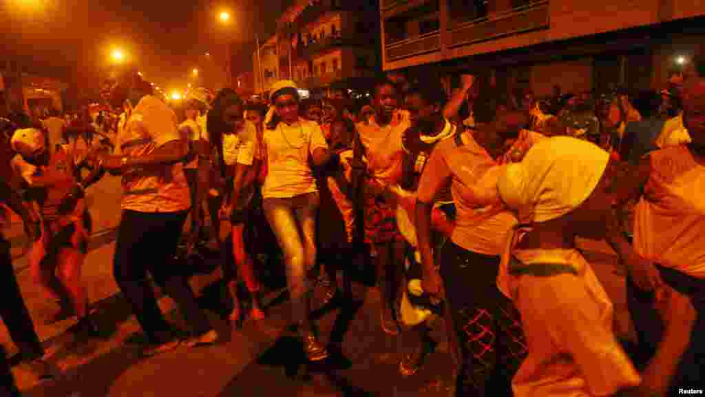
<instances>
[{"instance_id":1,"label":"dark trouser leg of the cut-off person at far left edge","mask_svg":"<svg viewBox=\"0 0 705 397\"><path fill-rule=\"evenodd\" d=\"M0 291L4 303L0 304L0 318L4 321L13 343L24 360L36 360L44 355L42 343L32 323L30 312L20 293L10 260L10 244L0 237Z\"/></svg>"}]
</instances>

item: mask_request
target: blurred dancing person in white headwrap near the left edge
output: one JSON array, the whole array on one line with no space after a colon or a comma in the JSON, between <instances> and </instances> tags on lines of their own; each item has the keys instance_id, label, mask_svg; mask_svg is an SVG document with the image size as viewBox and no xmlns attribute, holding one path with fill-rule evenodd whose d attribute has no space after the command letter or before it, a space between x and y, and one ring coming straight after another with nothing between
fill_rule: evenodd
<instances>
[{"instance_id":1,"label":"blurred dancing person in white headwrap near the left edge","mask_svg":"<svg viewBox=\"0 0 705 397\"><path fill-rule=\"evenodd\" d=\"M86 254L88 238L85 186L97 182L99 170L85 184L75 179L77 158L85 158L87 148L60 145L47 150L44 131L18 129L11 146L20 158L13 160L22 177L34 191L42 218L42 235L32 246L30 269L37 285L56 300L63 316L73 309L78 316L78 330L84 336L95 333L88 317L85 288L80 282L80 268ZM56 270L59 270L58 275Z\"/></svg>"}]
</instances>

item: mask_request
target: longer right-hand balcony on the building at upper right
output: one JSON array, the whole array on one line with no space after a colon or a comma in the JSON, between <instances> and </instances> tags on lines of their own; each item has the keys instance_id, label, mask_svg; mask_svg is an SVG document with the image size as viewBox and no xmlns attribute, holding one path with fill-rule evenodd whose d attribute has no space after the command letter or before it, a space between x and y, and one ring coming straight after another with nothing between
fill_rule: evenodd
<instances>
[{"instance_id":1,"label":"longer right-hand balcony on the building at upper right","mask_svg":"<svg viewBox=\"0 0 705 397\"><path fill-rule=\"evenodd\" d=\"M449 31L448 47L496 40L548 27L548 0L541 0L453 27Z\"/></svg>"}]
</instances>

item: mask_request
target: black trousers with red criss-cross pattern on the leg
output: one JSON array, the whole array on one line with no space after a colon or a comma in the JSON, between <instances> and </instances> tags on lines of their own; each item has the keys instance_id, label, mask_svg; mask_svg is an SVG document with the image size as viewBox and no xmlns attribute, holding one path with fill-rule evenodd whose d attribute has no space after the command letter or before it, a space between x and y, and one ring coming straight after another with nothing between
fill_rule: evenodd
<instances>
[{"instance_id":1,"label":"black trousers with red criss-cross pattern on the leg","mask_svg":"<svg viewBox=\"0 0 705 397\"><path fill-rule=\"evenodd\" d=\"M497 288L499 256L441 248L446 290L460 368L455 396L512 396L511 380L527 355L519 312Z\"/></svg>"}]
</instances>

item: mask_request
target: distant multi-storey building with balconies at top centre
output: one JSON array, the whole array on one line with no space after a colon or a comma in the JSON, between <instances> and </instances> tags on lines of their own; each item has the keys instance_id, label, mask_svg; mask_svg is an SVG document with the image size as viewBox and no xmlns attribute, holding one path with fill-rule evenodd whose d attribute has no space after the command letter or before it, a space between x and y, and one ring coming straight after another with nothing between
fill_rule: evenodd
<instances>
[{"instance_id":1,"label":"distant multi-storey building with balconies at top centre","mask_svg":"<svg viewBox=\"0 0 705 397\"><path fill-rule=\"evenodd\" d=\"M317 96L369 85L381 70L378 22L375 1L295 1L277 20L276 76ZM260 59L264 69L262 48ZM258 92L267 88L258 86Z\"/></svg>"}]
</instances>

